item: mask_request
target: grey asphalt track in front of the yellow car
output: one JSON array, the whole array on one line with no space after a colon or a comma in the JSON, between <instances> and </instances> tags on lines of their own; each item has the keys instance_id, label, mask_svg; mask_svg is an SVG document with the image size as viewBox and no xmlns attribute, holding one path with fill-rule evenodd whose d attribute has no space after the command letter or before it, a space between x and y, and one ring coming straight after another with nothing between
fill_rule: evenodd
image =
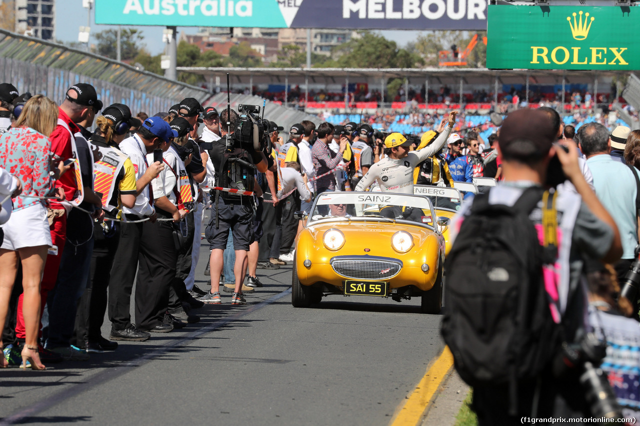
<instances>
[{"instance_id":1,"label":"grey asphalt track in front of the yellow car","mask_svg":"<svg viewBox=\"0 0 640 426\"><path fill-rule=\"evenodd\" d=\"M205 265L196 285L208 289ZM298 309L291 265L258 275L243 308L223 293L180 331L44 372L0 370L0 425L388 425L443 351L440 316L417 298Z\"/></svg>"}]
</instances>

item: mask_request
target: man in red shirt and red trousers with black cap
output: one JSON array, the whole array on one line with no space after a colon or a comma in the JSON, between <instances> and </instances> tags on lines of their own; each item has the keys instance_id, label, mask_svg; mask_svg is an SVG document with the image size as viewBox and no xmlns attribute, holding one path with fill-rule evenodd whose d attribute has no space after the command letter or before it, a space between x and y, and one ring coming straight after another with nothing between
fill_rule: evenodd
<instances>
[{"instance_id":1,"label":"man in red shirt and red trousers with black cap","mask_svg":"<svg viewBox=\"0 0 640 426\"><path fill-rule=\"evenodd\" d=\"M75 139L74 134L80 129L76 123L82 122L89 114L93 114L93 106L97 104L97 93L91 84L78 83L71 86L67 90L65 100L60 106L58 114L58 126L49 136L51 140L51 151L55 155L54 162L66 159L76 158L74 152ZM56 187L65 191L65 199L67 201L74 200L79 194L79 188L76 182L76 171L72 165L60 178L56 181ZM65 203L65 201L63 201ZM49 205L49 229L51 231L51 241L53 248L47 256L42 283L40 285L40 296L42 297L42 309L44 310L49 290L56 285L58 278L58 267L60 267L60 259L62 251L65 248L67 239L67 212L63 203L52 201ZM22 318L22 296L18 302L18 318L15 327L17 338L25 338L24 320ZM40 359L43 362L61 361L60 356L54 356L50 359L47 354L43 353L44 348L40 347ZM44 358L43 358L44 355ZM56 354L57 355L57 354Z\"/></svg>"}]
</instances>

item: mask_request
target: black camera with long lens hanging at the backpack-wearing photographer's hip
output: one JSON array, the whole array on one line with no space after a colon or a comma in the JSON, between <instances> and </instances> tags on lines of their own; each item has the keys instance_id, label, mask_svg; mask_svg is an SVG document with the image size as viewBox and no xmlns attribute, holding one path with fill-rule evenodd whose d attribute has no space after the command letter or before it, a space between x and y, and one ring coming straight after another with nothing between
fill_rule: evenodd
<instances>
[{"instance_id":1,"label":"black camera with long lens hanging at the backpack-wearing photographer's hip","mask_svg":"<svg viewBox=\"0 0 640 426\"><path fill-rule=\"evenodd\" d=\"M554 363L554 372L556 376L570 370L579 374L579 382L593 417L620 418L622 410L616 395L607 375L599 367L606 354L607 345L600 342L595 334L587 333L580 342L563 343Z\"/></svg>"}]
</instances>

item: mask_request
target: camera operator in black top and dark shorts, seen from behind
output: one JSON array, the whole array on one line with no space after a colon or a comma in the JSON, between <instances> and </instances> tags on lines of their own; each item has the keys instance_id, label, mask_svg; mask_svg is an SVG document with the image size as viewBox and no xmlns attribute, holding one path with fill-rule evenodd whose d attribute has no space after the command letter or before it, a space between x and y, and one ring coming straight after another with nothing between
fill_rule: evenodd
<instances>
[{"instance_id":1,"label":"camera operator in black top and dark shorts, seen from behind","mask_svg":"<svg viewBox=\"0 0 640 426\"><path fill-rule=\"evenodd\" d=\"M230 109L223 111L220 121L222 138L214 141L211 150L209 150L209 157L216 167L216 186L223 187L223 184L229 179L228 176L224 175L225 171L227 171L225 165L231 164L230 169L239 169L238 171L241 171L241 175L245 177L242 183L245 188L249 189L253 185L254 168L257 168L260 173L264 173L268 167L267 159L262 152L255 152L252 146L247 146L246 142L239 141L234 137L239 122L239 116L236 111ZM227 148L230 152L225 152ZM242 162L230 162L230 160L237 158L241 159ZM250 184L249 182L252 183ZM223 253L227 247L228 233L231 231L236 251L236 262L234 264L236 288L231 304L232 306L243 306L246 304L246 300L242 294L242 284L248 265L249 246L254 240L253 216L255 215L255 205L253 196L237 195L226 191L216 191L211 196L211 220L205 230L209 248L211 249L211 291L202 296L200 300L211 304L222 303L220 297L220 275L223 265Z\"/></svg>"}]
</instances>

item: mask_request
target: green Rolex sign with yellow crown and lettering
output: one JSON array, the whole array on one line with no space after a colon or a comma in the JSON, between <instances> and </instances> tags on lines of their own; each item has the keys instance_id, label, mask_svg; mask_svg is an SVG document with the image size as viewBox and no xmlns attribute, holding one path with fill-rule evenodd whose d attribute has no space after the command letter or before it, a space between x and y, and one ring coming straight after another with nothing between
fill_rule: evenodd
<instances>
[{"instance_id":1,"label":"green Rolex sign with yellow crown and lettering","mask_svg":"<svg viewBox=\"0 0 640 426\"><path fill-rule=\"evenodd\" d=\"M488 68L638 70L640 8L489 6Z\"/></svg>"}]
</instances>

